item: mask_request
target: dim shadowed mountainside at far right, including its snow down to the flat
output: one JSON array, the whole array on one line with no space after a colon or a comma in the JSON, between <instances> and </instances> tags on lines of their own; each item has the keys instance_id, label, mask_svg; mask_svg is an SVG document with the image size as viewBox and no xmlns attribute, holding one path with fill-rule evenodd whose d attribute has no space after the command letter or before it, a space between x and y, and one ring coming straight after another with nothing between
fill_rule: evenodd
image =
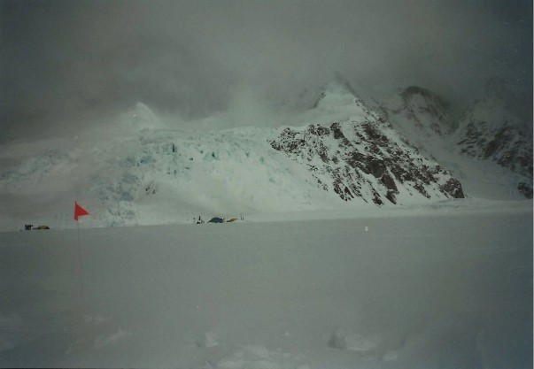
<instances>
[{"instance_id":1,"label":"dim shadowed mountainside at far right, including its snow down to the flat","mask_svg":"<svg viewBox=\"0 0 534 369\"><path fill-rule=\"evenodd\" d=\"M374 107L409 142L453 173L468 196L531 198L531 129L499 91L490 88L460 119L443 98L425 88L406 88Z\"/></svg>"}]
</instances>

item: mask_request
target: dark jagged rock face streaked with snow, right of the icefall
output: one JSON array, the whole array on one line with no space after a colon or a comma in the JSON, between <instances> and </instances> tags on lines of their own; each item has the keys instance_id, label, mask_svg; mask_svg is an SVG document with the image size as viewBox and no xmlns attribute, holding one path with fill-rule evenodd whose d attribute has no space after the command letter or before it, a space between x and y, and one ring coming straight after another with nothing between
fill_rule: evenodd
<instances>
[{"instance_id":1,"label":"dark jagged rock face streaked with snow, right of the icefall","mask_svg":"<svg viewBox=\"0 0 534 369\"><path fill-rule=\"evenodd\" d=\"M463 198L460 182L404 140L382 118L285 128L273 149L307 165L318 185L345 201L380 205L408 196Z\"/></svg>"}]
</instances>

